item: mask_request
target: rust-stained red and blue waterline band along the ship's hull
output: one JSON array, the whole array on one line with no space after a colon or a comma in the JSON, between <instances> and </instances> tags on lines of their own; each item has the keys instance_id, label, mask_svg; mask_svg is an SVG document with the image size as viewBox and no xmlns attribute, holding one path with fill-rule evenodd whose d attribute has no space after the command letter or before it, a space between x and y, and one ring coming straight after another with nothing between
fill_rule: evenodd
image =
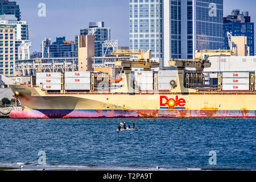
<instances>
[{"instance_id":1,"label":"rust-stained red and blue waterline band along the ship's hull","mask_svg":"<svg viewBox=\"0 0 256 182\"><path fill-rule=\"evenodd\" d=\"M11 111L10 118L253 118L245 110L33 110Z\"/></svg>"}]
</instances>

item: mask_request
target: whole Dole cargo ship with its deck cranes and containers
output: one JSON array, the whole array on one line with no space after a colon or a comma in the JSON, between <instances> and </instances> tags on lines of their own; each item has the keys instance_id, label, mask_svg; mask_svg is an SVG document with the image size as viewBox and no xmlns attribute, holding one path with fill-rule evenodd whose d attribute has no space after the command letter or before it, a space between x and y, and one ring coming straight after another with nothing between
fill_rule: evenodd
<instances>
[{"instance_id":1,"label":"whole Dole cargo ship with its deck cranes and containers","mask_svg":"<svg viewBox=\"0 0 256 182\"><path fill-rule=\"evenodd\" d=\"M256 117L255 73L222 73L218 75L216 89L188 88L185 86L185 68L203 71L210 67L209 60L174 59L169 64L177 68L176 76L172 76L176 80L168 80L170 90L161 90L161 86L154 86L155 80L164 79L156 79L150 71L159 67L159 63L149 58L115 61L115 65L123 67L122 79L115 80L115 84L109 84L105 89L94 88L96 74L93 72L38 73L37 79L43 82L40 86L32 82L31 85L10 86L23 107L23 110L11 111L10 118ZM134 67L144 71L131 74ZM134 86L133 77L137 86L140 85L139 89ZM198 78L201 79L200 75ZM51 83L52 80L55 82ZM148 80L153 80L150 86L147 86ZM244 85L249 85L249 89L245 90Z\"/></svg>"}]
</instances>

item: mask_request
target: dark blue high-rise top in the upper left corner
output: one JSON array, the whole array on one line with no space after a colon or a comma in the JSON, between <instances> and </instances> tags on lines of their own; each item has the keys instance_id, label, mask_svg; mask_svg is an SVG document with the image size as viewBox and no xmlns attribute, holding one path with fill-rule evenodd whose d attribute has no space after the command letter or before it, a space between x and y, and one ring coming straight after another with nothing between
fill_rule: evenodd
<instances>
[{"instance_id":1,"label":"dark blue high-rise top in the upper left corner","mask_svg":"<svg viewBox=\"0 0 256 182\"><path fill-rule=\"evenodd\" d=\"M20 21L20 9L16 2L0 0L0 15L15 15Z\"/></svg>"}]
</instances>

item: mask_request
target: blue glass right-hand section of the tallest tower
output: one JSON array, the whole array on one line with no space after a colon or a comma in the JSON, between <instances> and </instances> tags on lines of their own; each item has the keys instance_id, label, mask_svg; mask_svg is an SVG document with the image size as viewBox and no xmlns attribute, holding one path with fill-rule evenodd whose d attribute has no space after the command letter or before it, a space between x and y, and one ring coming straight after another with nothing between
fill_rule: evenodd
<instances>
[{"instance_id":1,"label":"blue glass right-hand section of the tallest tower","mask_svg":"<svg viewBox=\"0 0 256 182\"><path fill-rule=\"evenodd\" d=\"M223 40L223 1L200 0L193 2L195 10L194 49L220 49Z\"/></svg>"}]
</instances>

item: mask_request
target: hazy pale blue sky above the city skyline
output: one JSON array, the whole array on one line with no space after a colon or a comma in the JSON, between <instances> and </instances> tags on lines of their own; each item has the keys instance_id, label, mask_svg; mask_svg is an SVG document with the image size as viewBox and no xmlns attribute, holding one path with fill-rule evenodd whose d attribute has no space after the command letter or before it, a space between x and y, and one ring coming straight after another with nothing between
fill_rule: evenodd
<instances>
[{"instance_id":1,"label":"hazy pale blue sky above the city skyline","mask_svg":"<svg viewBox=\"0 0 256 182\"><path fill-rule=\"evenodd\" d=\"M10 0L13 1L13 0ZM129 0L16 0L21 18L30 24L31 52L40 51L44 38L65 36L75 41L81 28L89 22L105 22L111 28L111 39L119 46L129 46ZM46 16L38 16L39 3L46 4ZM256 22L255 0L224 0L224 16L233 9L249 11L251 22ZM256 42L255 42L256 45Z\"/></svg>"}]
</instances>

